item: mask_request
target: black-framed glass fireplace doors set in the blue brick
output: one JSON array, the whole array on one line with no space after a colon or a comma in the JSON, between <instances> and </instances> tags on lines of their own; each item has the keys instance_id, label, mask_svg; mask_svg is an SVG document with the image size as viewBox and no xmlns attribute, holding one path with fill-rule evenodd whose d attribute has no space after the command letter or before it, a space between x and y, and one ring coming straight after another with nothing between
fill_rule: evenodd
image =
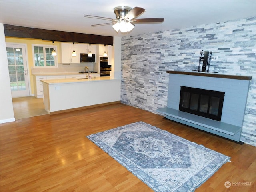
<instances>
[{"instance_id":1,"label":"black-framed glass fireplace doors set in the blue brick","mask_svg":"<svg viewBox=\"0 0 256 192\"><path fill-rule=\"evenodd\" d=\"M225 92L180 86L180 111L220 121Z\"/></svg>"}]
</instances>

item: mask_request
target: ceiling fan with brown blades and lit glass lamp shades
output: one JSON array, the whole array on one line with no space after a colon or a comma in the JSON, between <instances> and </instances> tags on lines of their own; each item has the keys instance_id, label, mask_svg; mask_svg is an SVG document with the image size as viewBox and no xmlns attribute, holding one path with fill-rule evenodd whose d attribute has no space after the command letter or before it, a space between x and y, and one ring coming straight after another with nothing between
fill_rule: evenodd
<instances>
[{"instance_id":1,"label":"ceiling fan with brown blades and lit glass lamp shades","mask_svg":"<svg viewBox=\"0 0 256 192\"><path fill-rule=\"evenodd\" d=\"M144 18L144 19L136 19L142 13L145 12L144 8L141 7L134 7L130 8L127 6L119 6L114 8L114 13L116 14L116 19L107 18L107 17L100 17L100 16L93 16L93 15L84 15L84 17L88 18L96 18L102 20L111 21L109 23L102 23L102 24L94 24L95 26L104 26L112 24L112 27L116 32L119 30L122 33L130 32L134 28L134 23L136 24L152 24L152 23L162 23L164 22L164 18Z\"/></svg>"}]
</instances>

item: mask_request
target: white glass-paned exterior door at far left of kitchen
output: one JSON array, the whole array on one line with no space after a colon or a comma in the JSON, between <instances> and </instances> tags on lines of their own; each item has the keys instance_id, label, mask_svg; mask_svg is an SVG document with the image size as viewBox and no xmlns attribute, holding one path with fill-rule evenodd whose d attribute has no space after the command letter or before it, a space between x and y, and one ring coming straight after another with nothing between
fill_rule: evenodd
<instances>
[{"instance_id":1,"label":"white glass-paned exterior door at far left of kitchen","mask_svg":"<svg viewBox=\"0 0 256 192\"><path fill-rule=\"evenodd\" d=\"M6 50L12 97L30 96L26 46L6 43Z\"/></svg>"}]
</instances>

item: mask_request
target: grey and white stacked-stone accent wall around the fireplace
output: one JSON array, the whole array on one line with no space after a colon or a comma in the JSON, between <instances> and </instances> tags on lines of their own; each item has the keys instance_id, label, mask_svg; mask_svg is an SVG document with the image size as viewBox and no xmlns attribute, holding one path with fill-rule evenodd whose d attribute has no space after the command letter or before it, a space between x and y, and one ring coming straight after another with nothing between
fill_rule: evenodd
<instances>
[{"instance_id":1,"label":"grey and white stacked-stone accent wall around the fireplace","mask_svg":"<svg viewBox=\"0 0 256 192\"><path fill-rule=\"evenodd\" d=\"M202 50L219 52L210 72L252 76L241 140L256 146L256 17L122 37L121 102L156 113L167 105L166 71L197 70Z\"/></svg>"}]
</instances>

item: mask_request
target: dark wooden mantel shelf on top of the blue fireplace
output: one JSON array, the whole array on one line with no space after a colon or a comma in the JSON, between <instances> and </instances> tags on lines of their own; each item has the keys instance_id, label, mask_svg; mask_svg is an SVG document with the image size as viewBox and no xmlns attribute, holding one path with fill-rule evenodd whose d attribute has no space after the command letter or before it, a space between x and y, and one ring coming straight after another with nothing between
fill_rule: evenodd
<instances>
[{"instance_id":1,"label":"dark wooden mantel shelf on top of the blue fireplace","mask_svg":"<svg viewBox=\"0 0 256 192\"><path fill-rule=\"evenodd\" d=\"M206 72L167 71L167 73L181 74L181 75L204 76L204 77L226 78L226 79L239 79L239 80L248 80L248 81L252 80L252 76L224 75L224 74L206 73Z\"/></svg>"}]
</instances>

